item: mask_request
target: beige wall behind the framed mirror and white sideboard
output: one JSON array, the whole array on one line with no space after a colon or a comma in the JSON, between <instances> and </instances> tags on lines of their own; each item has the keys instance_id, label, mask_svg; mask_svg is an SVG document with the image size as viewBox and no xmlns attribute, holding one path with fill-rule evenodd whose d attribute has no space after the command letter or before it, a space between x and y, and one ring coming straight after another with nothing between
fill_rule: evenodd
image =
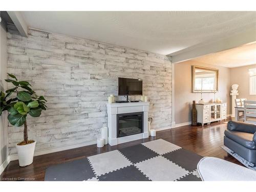
<instances>
[{"instance_id":1,"label":"beige wall behind the framed mirror and white sideboard","mask_svg":"<svg viewBox=\"0 0 256 192\"><path fill-rule=\"evenodd\" d=\"M191 104L193 100L198 102L201 93L192 93L191 79L192 67L204 66L219 69L219 92L216 98L227 102L227 114L229 114L229 90L230 90L230 69L220 66L207 65L196 61L184 61L175 64L175 122L176 124L191 121ZM203 93L203 99L210 101L214 98L214 93Z\"/></svg>"}]
</instances>

